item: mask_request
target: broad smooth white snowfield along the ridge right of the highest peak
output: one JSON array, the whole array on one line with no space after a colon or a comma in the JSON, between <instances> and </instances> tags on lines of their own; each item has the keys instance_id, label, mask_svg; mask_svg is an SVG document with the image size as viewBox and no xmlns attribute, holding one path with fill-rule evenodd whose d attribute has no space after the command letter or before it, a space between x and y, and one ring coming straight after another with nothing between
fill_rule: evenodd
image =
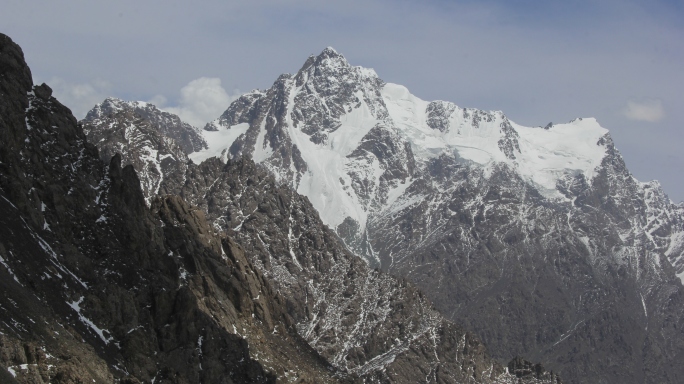
<instances>
[{"instance_id":1,"label":"broad smooth white snowfield along the ridge right of the highest peak","mask_svg":"<svg viewBox=\"0 0 684 384\"><path fill-rule=\"evenodd\" d=\"M420 162L456 154L483 166L507 163L553 196L563 174L582 173L591 179L605 155L599 140L608 130L593 118L540 129L516 124L501 111L427 102L397 84L388 83L381 92L396 127Z\"/></svg>"}]
</instances>

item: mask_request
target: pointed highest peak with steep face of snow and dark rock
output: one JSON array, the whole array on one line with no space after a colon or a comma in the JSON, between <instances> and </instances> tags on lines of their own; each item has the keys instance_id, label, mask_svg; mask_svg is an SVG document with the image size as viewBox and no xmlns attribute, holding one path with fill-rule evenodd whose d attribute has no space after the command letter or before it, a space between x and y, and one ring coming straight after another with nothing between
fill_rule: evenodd
<instances>
[{"instance_id":1,"label":"pointed highest peak with steep face of snow and dark rock","mask_svg":"<svg viewBox=\"0 0 684 384\"><path fill-rule=\"evenodd\" d=\"M249 124L246 132L231 136L234 142L224 144L232 157L249 153L269 167L309 197L332 228L351 217L363 229L387 167L374 156L359 159L354 151L374 128L396 135L380 85L373 71L349 66L328 48L309 58L296 76L281 76L268 92L240 98L207 125L205 135L212 134L209 129L239 131ZM292 155L283 156L282 142ZM200 152L193 159L211 155ZM306 168L298 169L297 162Z\"/></svg>"}]
</instances>

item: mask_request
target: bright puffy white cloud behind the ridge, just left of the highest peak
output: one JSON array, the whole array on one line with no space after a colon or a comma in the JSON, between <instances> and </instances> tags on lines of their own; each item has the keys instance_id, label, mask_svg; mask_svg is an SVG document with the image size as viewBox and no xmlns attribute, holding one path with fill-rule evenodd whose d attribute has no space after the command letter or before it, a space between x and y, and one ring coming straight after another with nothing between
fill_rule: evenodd
<instances>
[{"instance_id":1,"label":"bright puffy white cloud behind the ridge, just left of the highest peak","mask_svg":"<svg viewBox=\"0 0 684 384\"><path fill-rule=\"evenodd\" d=\"M240 96L238 90L229 95L221 86L221 79L200 77L181 89L178 106L164 107L166 98L157 95L151 103L165 111L175 113L180 118L196 127L203 127L207 122L216 119L228 108L230 103Z\"/></svg>"}]
</instances>

